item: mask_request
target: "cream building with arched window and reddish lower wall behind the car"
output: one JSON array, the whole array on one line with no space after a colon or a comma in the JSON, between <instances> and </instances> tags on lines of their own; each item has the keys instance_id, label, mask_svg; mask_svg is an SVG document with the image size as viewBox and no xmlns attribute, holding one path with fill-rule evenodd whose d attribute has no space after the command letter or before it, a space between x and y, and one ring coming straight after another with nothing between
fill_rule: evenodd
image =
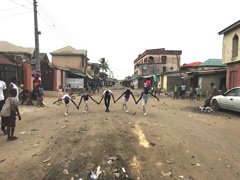
<instances>
[{"instance_id":1,"label":"cream building with arched window and reddish lower wall behind the car","mask_svg":"<svg viewBox=\"0 0 240 180\"><path fill-rule=\"evenodd\" d=\"M227 64L227 89L240 86L240 21L218 33L223 36L222 63Z\"/></svg>"}]
</instances>

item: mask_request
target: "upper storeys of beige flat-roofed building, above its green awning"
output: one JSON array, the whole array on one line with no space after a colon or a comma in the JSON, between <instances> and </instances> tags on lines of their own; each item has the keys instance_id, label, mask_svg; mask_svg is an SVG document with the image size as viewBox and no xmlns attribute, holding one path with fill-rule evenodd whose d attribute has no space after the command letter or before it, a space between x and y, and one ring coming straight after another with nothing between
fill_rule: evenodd
<instances>
[{"instance_id":1,"label":"upper storeys of beige flat-roofed building, above its green awning","mask_svg":"<svg viewBox=\"0 0 240 180\"><path fill-rule=\"evenodd\" d=\"M182 51L149 49L134 60L134 75L160 75L164 72L179 71Z\"/></svg>"}]
</instances>

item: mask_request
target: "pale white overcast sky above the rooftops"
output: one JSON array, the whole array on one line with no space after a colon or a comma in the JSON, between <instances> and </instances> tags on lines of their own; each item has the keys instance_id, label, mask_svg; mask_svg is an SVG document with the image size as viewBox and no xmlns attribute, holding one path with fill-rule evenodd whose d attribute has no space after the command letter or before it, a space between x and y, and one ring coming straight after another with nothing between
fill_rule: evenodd
<instances>
[{"instance_id":1,"label":"pale white overcast sky above the rooftops","mask_svg":"<svg viewBox=\"0 0 240 180\"><path fill-rule=\"evenodd\" d=\"M32 0L0 0L0 40L34 47ZM182 50L181 64L222 57L217 33L238 21L239 0L38 0L40 51L65 46L101 57L119 79L146 49ZM51 55L49 56L51 60Z\"/></svg>"}]
</instances>

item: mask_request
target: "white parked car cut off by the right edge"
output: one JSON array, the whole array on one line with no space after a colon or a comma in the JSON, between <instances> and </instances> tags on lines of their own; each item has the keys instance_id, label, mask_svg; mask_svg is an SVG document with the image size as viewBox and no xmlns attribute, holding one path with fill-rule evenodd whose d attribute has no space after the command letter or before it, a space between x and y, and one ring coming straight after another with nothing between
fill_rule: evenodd
<instances>
[{"instance_id":1,"label":"white parked car cut off by the right edge","mask_svg":"<svg viewBox=\"0 0 240 180\"><path fill-rule=\"evenodd\" d=\"M223 95L214 96L211 100L214 110L228 109L240 112L240 87L228 90Z\"/></svg>"}]
</instances>

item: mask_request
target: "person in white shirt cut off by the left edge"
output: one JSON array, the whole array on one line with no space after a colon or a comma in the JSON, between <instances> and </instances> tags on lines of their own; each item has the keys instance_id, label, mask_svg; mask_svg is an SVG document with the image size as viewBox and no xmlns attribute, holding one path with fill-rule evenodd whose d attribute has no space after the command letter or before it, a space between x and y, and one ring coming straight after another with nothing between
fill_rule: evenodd
<instances>
[{"instance_id":1,"label":"person in white shirt cut off by the left edge","mask_svg":"<svg viewBox=\"0 0 240 180\"><path fill-rule=\"evenodd\" d=\"M2 110L3 105L5 104L5 99L7 98L7 86L6 83L3 81L2 73L0 73L0 112ZM7 134L5 129L5 118L1 117L2 119L2 126L1 130L4 134Z\"/></svg>"}]
</instances>

